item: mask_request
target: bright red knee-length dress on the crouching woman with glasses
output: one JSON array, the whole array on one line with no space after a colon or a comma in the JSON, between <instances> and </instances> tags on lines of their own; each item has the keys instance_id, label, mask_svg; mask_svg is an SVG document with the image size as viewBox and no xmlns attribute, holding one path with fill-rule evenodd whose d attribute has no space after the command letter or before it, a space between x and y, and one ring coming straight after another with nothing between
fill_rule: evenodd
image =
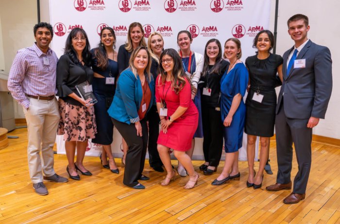
<instances>
[{"instance_id":1,"label":"bright red knee-length dress on the crouching woman with glasses","mask_svg":"<svg viewBox=\"0 0 340 224\"><path fill-rule=\"evenodd\" d=\"M157 76L155 84L156 102L160 103L161 99L166 102L168 116L171 116L178 106L187 107L187 111L170 124L167 133L160 131L157 144L178 151L191 149L191 140L198 125L198 111L191 100L190 83L186 79L184 88L178 94L171 88L170 81L166 81L165 84L162 83L160 75Z\"/></svg>"}]
</instances>

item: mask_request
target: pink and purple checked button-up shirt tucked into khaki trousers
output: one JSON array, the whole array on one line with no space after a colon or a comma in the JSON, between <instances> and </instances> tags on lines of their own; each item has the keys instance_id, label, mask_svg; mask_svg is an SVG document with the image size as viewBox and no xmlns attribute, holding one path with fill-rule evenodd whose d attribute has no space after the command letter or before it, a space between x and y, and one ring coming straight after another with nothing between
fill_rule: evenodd
<instances>
[{"instance_id":1,"label":"pink and purple checked button-up shirt tucked into khaki trousers","mask_svg":"<svg viewBox=\"0 0 340 224\"><path fill-rule=\"evenodd\" d=\"M48 58L45 59L45 64L44 57ZM57 62L58 57L51 49L45 54L35 43L31 47L17 51L7 86L13 98L22 107L25 109L30 107L30 101L25 93L35 96L50 96L57 93L55 87Z\"/></svg>"}]
</instances>

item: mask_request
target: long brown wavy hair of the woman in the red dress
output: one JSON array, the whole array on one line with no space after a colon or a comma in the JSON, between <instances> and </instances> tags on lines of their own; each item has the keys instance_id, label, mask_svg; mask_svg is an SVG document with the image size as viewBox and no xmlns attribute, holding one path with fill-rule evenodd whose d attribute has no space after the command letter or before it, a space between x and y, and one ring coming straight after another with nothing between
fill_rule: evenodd
<instances>
[{"instance_id":1,"label":"long brown wavy hair of the woman in the red dress","mask_svg":"<svg viewBox=\"0 0 340 224\"><path fill-rule=\"evenodd\" d=\"M159 66L159 73L162 77L162 84L165 83L165 79L167 77L167 72L163 69L162 59L164 56L170 56L173 60L173 69L171 74L171 87L175 91L176 94L178 94L186 84L185 78L187 78L188 82L191 86L190 78L184 73L183 70L183 62L181 57L178 55L177 51L175 49L169 48L165 49L160 58L159 58L159 64L162 66ZM158 83L158 80L156 80L156 84Z\"/></svg>"}]
</instances>

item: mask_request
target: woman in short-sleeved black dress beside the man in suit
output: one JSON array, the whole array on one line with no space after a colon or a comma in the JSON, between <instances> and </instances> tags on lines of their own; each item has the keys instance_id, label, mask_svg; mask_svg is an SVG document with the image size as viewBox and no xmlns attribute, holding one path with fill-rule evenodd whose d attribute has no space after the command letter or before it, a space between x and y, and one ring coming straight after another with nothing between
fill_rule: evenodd
<instances>
[{"instance_id":1,"label":"woman in short-sleeved black dress beside the man in suit","mask_svg":"<svg viewBox=\"0 0 340 224\"><path fill-rule=\"evenodd\" d=\"M247 158L249 176L247 187L260 188L263 181L263 170L268 160L270 137L274 135L276 92L275 87L282 82L283 59L270 53L274 37L269 30L260 31L253 47L257 54L246 59L249 70L250 89L246 99L245 132L247 136ZM278 79L276 74L279 74ZM254 157L256 137L260 136L260 165L255 176Z\"/></svg>"}]
</instances>

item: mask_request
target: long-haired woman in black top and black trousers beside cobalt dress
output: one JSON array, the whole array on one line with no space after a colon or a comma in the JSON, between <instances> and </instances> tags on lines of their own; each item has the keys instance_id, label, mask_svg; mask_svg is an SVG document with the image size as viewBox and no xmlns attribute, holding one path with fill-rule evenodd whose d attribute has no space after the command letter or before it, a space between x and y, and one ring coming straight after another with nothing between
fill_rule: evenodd
<instances>
[{"instance_id":1,"label":"long-haired woman in black top and black trousers beside cobalt dress","mask_svg":"<svg viewBox=\"0 0 340 224\"><path fill-rule=\"evenodd\" d=\"M221 43L218 39L210 39L205 45L204 66L200 78L203 153L204 164L200 166L204 175L211 175L219 166L223 146L223 123L219 105L221 77L229 62L222 59Z\"/></svg>"}]
</instances>

